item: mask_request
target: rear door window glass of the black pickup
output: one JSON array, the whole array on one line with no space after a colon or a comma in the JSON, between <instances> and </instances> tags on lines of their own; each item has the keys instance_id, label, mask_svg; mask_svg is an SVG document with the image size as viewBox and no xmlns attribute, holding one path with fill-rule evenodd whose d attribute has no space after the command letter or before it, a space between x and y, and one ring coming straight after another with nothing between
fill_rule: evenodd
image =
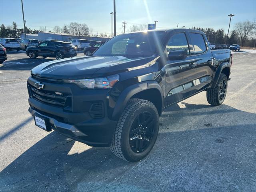
<instances>
[{"instance_id":1,"label":"rear door window glass of the black pickup","mask_svg":"<svg viewBox=\"0 0 256 192\"><path fill-rule=\"evenodd\" d=\"M204 37L202 34L190 33L192 45L195 49L195 54L201 54L207 50Z\"/></svg>"}]
</instances>

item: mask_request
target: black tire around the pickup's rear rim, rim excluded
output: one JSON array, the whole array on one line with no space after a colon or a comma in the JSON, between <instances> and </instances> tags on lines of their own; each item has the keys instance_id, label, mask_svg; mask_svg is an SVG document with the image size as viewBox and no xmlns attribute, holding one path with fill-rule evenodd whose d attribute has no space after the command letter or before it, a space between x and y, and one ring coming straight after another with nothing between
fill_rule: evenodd
<instances>
[{"instance_id":1,"label":"black tire around the pickup's rear rim, rim excluded","mask_svg":"<svg viewBox=\"0 0 256 192\"><path fill-rule=\"evenodd\" d=\"M225 92L224 98L222 100L220 100L219 91L220 91L221 83L223 80L226 81L226 92ZM220 74L220 78L219 78L216 86L214 88L209 88L206 92L206 98L207 98L208 103L213 106L221 105L226 98L227 90L228 90L228 78L225 74L222 73L222 74Z\"/></svg>"}]
</instances>

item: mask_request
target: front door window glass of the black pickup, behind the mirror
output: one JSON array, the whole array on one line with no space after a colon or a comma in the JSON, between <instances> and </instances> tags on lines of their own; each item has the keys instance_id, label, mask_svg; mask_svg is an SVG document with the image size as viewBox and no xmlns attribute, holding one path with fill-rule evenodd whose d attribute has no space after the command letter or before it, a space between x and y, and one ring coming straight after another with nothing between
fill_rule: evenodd
<instances>
[{"instance_id":1,"label":"front door window glass of the black pickup, behind the mirror","mask_svg":"<svg viewBox=\"0 0 256 192\"><path fill-rule=\"evenodd\" d=\"M184 33L178 33L171 36L166 45L167 52L176 51L176 50L186 50L188 55L190 55L188 48L188 41Z\"/></svg>"}]
</instances>

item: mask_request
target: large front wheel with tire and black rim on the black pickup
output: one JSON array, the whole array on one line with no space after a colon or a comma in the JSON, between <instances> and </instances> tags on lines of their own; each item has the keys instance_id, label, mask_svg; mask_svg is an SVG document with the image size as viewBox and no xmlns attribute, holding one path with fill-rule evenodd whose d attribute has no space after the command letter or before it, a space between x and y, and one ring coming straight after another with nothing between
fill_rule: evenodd
<instances>
[{"instance_id":1,"label":"large front wheel with tire and black rim on the black pickup","mask_svg":"<svg viewBox=\"0 0 256 192\"><path fill-rule=\"evenodd\" d=\"M158 130L156 106L147 100L131 99L116 125L110 149L123 160L139 161L151 151Z\"/></svg>"}]
</instances>

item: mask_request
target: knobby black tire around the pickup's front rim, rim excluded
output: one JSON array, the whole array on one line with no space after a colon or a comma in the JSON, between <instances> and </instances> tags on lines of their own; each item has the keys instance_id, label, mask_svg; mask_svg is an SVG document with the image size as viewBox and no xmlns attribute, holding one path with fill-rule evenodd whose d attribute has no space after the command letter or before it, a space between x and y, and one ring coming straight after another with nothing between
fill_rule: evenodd
<instances>
[{"instance_id":1,"label":"knobby black tire around the pickup's front rim, rim excluded","mask_svg":"<svg viewBox=\"0 0 256 192\"><path fill-rule=\"evenodd\" d=\"M135 153L134 151L132 151L129 144L130 129L136 117L142 112L147 111L150 112L154 118L154 136L152 137L150 144L144 151L140 153ZM147 100L130 99L118 120L116 129L113 134L110 149L116 156L118 156L122 160L126 160L128 162L139 161L142 158L146 157L151 151L152 147L156 142L158 130L159 115L156 106L152 102Z\"/></svg>"}]
</instances>

